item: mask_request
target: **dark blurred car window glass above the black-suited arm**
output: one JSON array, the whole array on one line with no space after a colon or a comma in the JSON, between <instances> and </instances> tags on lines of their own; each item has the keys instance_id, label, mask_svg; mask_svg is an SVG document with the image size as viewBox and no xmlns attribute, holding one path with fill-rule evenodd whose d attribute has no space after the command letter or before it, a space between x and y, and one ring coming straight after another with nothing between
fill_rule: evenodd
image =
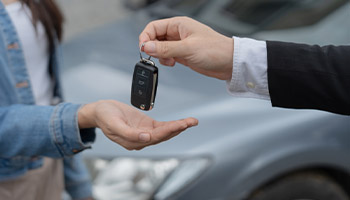
<instances>
[{"instance_id":1,"label":"dark blurred car window glass above the black-suited arm","mask_svg":"<svg viewBox=\"0 0 350 200\"><path fill-rule=\"evenodd\" d=\"M322 20L348 0L232 0L223 8L226 17L259 29L308 26Z\"/></svg>"}]
</instances>

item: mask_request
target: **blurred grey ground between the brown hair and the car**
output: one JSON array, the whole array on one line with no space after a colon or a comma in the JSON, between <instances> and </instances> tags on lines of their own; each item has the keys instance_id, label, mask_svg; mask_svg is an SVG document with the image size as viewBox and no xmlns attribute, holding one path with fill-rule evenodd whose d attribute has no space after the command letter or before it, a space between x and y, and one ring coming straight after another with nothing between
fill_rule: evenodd
<instances>
[{"instance_id":1,"label":"blurred grey ground between the brown hair and the car","mask_svg":"<svg viewBox=\"0 0 350 200\"><path fill-rule=\"evenodd\" d=\"M128 16L122 0L57 0L65 15L65 41L86 30Z\"/></svg>"}]
</instances>

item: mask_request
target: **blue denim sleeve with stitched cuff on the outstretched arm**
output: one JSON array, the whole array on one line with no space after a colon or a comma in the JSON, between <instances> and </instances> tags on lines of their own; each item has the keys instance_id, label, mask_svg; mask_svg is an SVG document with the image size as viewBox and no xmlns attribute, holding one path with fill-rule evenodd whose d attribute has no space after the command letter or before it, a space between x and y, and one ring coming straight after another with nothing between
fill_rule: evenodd
<instances>
[{"instance_id":1,"label":"blue denim sleeve with stitched cuff on the outstretched arm","mask_svg":"<svg viewBox=\"0 0 350 200\"><path fill-rule=\"evenodd\" d=\"M95 132L87 129L80 133L77 122L80 107L71 103L0 107L0 157L59 158L91 148Z\"/></svg>"}]
</instances>

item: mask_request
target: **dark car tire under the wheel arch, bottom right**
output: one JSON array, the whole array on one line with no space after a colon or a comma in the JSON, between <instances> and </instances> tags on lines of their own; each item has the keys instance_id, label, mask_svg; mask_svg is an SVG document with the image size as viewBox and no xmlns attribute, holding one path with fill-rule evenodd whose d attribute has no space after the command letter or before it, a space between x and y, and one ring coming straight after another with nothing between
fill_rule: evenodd
<instances>
[{"instance_id":1,"label":"dark car tire under the wheel arch, bottom right","mask_svg":"<svg viewBox=\"0 0 350 200\"><path fill-rule=\"evenodd\" d=\"M248 200L349 200L344 189L317 172L296 173L257 190Z\"/></svg>"}]
</instances>

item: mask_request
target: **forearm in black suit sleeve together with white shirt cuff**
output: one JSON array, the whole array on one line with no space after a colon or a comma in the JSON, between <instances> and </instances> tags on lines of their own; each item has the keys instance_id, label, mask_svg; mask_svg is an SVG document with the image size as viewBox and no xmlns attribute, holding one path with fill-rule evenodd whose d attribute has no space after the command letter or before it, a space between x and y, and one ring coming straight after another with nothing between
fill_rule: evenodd
<instances>
[{"instance_id":1,"label":"forearm in black suit sleeve together with white shirt cuff","mask_svg":"<svg viewBox=\"0 0 350 200\"><path fill-rule=\"evenodd\" d=\"M235 97L270 99L273 106L350 114L349 46L265 42L235 38Z\"/></svg>"}]
</instances>

